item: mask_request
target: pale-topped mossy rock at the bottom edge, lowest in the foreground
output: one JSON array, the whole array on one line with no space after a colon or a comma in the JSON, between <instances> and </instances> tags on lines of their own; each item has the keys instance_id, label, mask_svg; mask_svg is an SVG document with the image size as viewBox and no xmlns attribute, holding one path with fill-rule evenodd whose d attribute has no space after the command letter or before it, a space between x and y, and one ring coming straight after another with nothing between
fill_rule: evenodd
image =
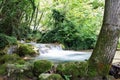
<instances>
[{"instance_id":1,"label":"pale-topped mossy rock at the bottom edge, lowest in the foreground","mask_svg":"<svg viewBox=\"0 0 120 80\"><path fill-rule=\"evenodd\" d=\"M41 74L39 80L64 80L60 74Z\"/></svg>"}]
</instances>

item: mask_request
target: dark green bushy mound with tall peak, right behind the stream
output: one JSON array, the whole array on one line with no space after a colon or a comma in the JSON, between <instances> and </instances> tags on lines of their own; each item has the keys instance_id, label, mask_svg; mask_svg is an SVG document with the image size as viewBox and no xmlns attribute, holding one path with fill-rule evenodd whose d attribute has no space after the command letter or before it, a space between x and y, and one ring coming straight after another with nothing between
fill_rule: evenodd
<instances>
[{"instance_id":1,"label":"dark green bushy mound with tall peak, right behind the stream","mask_svg":"<svg viewBox=\"0 0 120 80\"><path fill-rule=\"evenodd\" d=\"M54 27L52 30L43 34L38 42L44 43L62 43L66 49L91 49L96 42L96 35L89 31L80 33L72 21L65 19L59 11L53 11ZM64 20L65 19L65 20Z\"/></svg>"}]
</instances>

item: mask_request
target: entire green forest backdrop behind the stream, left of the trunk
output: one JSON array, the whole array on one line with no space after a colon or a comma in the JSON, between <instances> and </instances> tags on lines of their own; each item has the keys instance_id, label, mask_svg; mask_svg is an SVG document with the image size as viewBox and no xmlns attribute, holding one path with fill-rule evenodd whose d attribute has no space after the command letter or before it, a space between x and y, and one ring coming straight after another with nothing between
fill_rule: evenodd
<instances>
[{"instance_id":1,"label":"entire green forest backdrop behind the stream, left of the trunk","mask_svg":"<svg viewBox=\"0 0 120 80\"><path fill-rule=\"evenodd\" d=\"M0 47L25 40L93 49L103 8L103 0L1 0Z\"/></svg>"}]
</instances>

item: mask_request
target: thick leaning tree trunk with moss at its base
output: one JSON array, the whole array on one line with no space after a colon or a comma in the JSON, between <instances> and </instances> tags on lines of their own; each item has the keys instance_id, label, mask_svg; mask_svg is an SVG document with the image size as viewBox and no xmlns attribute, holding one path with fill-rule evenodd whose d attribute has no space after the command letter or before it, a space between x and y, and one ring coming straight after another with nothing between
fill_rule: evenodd
<instances>
[{"instance_id":1,"label":"thick leaning tree trunk with moss at its base","mask_svg":"<svg viewBox=\"0 0 120 80\"><path fill-rule=\"evenodd\" d=\"M108 75L120 35L120 0L105 0L103 25L98 41L89 59L88 73Z\"/></svg>"}]
</instances>

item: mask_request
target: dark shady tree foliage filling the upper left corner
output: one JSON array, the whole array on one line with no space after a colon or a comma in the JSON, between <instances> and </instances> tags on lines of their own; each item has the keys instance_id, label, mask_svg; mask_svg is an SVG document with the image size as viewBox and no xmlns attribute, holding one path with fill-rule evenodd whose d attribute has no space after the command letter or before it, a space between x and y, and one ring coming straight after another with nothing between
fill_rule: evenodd
<instances>
[{"instance_id":1,"label":"dark shady tree foliage filling the upper left corner","mask_svg":"<svg viewBox=\"0 0 120 80\"><path fill-rule=\"evenodd\" d=\"M0 33L12 35L17 39L30 33L30 25L36 11L36 0L2 0L0 2ZM37 13L36 13L37 14Z\"/></svg>"}]
</instances>

